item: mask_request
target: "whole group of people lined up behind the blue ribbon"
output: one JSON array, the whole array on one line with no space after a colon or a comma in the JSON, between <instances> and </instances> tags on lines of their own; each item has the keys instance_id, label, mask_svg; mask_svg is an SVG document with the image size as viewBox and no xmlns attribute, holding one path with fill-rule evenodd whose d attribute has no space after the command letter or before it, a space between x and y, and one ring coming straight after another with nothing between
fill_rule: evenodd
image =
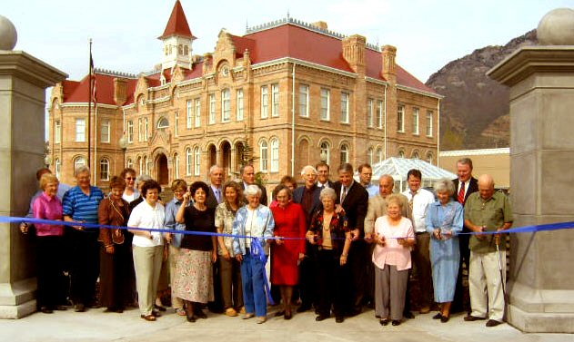
<instances>
[{"instance_id":1,"label":"whole group of people lined up behind the blue ribbon","mask_svg":"<svg viewBox=\"0 0 574 342\"><path fill-rule=\"evenodd\" d=\"M428 313L437 302L433 318L446 323L465 309L464 263L471 308L464 320L488 318L487 326L494 327L504 315L499 260L505 248L488 231L509 229L512 212L490 176L472 177L472 161L459 160L457 169L457 180L435 183L435 200L421 188L415 169L408 171L408 190L394 193L390 175L381 176L378 187L371 183L368 164L357 169L360 181L350 164L340 165L333 182L327 163L319 162L303 168L299 187L284 177L268 206L251 165L241 168L240 181L224 182L217 165L209 170L209 183L173 181L174 198L165 205L156 181L140 176L135 187L132 169L110 180L107 195L90 185L86 167L76 170L76 187L65 191L44 170L38 173L42 191L31 201L33 216L82 223L70 229L35 224L38 308L65 308L62 278L69 262L76 311L96 305L99 276L99 302L107 312L137 302L141 318L155 321L165 309L156 301L165 273L172 307L189 322L206 318L203 308L213 305L260 324L267 320L267 304L277 302L275 316L285 319L314 308L317 321L334 316L341 323L372 306L382 326L398 326L413 318L414 266L419 312ZM23 223L21 230L29 226ZM63 254L65 244L69 255Z\"/></svg>"}]
</instances>

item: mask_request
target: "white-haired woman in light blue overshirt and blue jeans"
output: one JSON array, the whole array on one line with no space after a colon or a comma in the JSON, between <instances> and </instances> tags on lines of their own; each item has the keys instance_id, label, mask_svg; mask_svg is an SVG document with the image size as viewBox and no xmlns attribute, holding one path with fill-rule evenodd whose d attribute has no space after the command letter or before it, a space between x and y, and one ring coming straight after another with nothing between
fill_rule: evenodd
<instances>
[{"instance_id":1,"label":"white-haired woman in light blue overshirt and blue jeans","mask_svg":"<svg viewBox=\"0 0 574 342\"><path fill-rule=\"evenodd\" d=\"M233 221L233 250L241 262L243 300L246 308L244 319L257 316L257 324L267 320L267 298L265 294L265 264L269 246L265 251L252 249L255 242L251 238L270 239L273 237L275 220L269 208L259 203L261 190L257 185L249 185L245 191L247 205L237 210ZM265 252L265 256L260 253Z\"/></svg>"}]
</instances>

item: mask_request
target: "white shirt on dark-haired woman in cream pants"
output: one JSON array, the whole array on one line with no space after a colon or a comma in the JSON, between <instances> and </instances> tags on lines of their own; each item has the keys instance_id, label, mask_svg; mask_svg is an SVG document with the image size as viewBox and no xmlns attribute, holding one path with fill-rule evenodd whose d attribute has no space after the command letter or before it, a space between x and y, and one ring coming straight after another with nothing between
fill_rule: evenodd
<instances>
[{"instance_id":1,"label":"white shirt on dark-haired woman in cream pants","mask_svg":"<svg viewBox=\"0 0 574 342\"><path fill-rule=\"evenodd\" d=\"M127 221L128 227L136 228L150 228L150 229L164 229L164 221L166 220L166 210L164 206L156 202L156 208L152 208L147 201L136 205L132 210L129 220ZM164 239L162 238L161 231L152 231L153 239L144 236L134 235L132 244L137 247L155 247L162 246Z\"/></svg>"}]
</instances>

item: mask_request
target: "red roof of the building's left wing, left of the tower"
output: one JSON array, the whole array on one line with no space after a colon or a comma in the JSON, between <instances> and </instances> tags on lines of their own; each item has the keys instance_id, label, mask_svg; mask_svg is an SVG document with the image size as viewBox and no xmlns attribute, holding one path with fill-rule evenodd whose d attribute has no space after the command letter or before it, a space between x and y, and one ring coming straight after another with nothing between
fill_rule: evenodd
<instances>
[{"instance_id":1,"label":"red roof of the building's left wing, left of the tower","mask_svg":"<svg viewBox=\"0 0 574 342\"><path fill-rule=\"evenodd\" d=\"M96 77L96 101L97 103L123 105L114 101L114 79L119 76L95 73ZM81 81L64 81L64 102L65 103L88 103L89 102L89 77L84 77ZM128 79L127 94L130 98L136 89L136 79ZM69 87L69 88L68 88ZM130 96L131 95L131 96ZM133 101L133 99L132 99ZM126 102L127 103L127 102Z\"/></svg>"}]
</instances>

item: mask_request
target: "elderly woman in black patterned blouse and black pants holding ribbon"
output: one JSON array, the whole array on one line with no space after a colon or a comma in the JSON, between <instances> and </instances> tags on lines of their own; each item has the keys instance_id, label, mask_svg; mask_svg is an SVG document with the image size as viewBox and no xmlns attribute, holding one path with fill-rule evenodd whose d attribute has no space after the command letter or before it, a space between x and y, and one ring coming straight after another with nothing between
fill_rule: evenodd
<instances>
[{"instance_id":1,"label":"elderly woman in black patterned blouse and black pants holding ribbon","mask_svg":"<svg viewBox=\"0 0 574 342\"><path fill-rule=\"evenodd\" d=\"M322 321L331 317L331 307L335 321L344 321L343 268L347 264L348 249L351 246L347 217L335 211L337 193L325 188L319 194L323 209L317 210L311 219L307 239L317 245L317 297L318 316Z\"/></svg>"}]
</instances>

